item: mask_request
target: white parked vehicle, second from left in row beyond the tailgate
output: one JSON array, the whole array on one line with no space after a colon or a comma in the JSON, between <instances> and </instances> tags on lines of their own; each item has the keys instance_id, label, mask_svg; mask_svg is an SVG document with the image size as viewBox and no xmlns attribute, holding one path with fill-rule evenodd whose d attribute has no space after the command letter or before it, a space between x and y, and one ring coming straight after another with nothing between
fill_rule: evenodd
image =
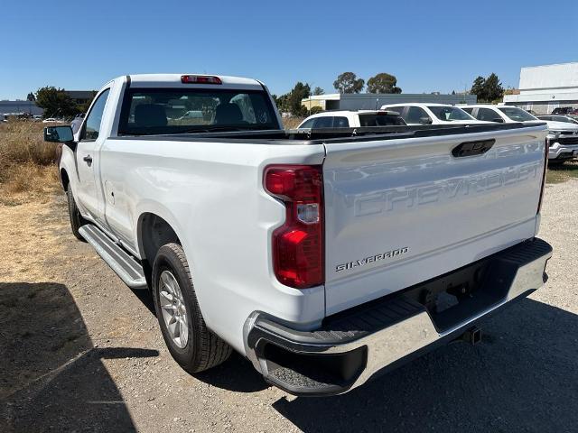
<instances>
[{"instance_id":1,"label":"white parked vehicle, second from left in row beyond the tailgate","mask_svg":"<svg viewBox=\"0 0 578 433\"><path fill-rule=\"evenodd\" d=\"M406 124L479 124L458 106L446 104L392 104L382 110L396 111Z\"/></svg>"}]
</instances>

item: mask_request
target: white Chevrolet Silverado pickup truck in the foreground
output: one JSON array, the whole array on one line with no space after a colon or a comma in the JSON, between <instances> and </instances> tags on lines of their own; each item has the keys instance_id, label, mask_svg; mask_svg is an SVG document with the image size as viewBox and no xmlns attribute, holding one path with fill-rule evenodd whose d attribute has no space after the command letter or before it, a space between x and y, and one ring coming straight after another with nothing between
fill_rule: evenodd
<instances>
[{"instance_id":1,"label":"white Chevrolet Silverado pickup truck in the foreground","mask_svg":"<svg viewBox=\"0 0 578 433\"><path fill-rule=\"evenodd\" d=\"M44 131L63 143L72 232L152 290L182 368L235 349L296 395L476 342L481 319L543 285L545 135L284 131L261 82L206 75L116 78L78 133Z\"/></svg>"}]
</instances>

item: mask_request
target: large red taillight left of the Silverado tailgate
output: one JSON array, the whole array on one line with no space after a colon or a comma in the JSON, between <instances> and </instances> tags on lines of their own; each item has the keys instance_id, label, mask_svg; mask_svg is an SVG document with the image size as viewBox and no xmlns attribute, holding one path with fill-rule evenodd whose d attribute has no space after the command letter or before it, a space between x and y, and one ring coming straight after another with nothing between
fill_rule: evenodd
<instances>
[{"instance_id":1,"label":"large red taillight left of the Silverado tailgate","mask_svg":"<svg viewBox=\"0 0 578 433\"><path fill-rule=\"evenodd\" d=\"M270 165L263 183L286 209L284 225L272 236L277 280L296 289L323 284L322 166Z\"/></svg>"}]
</instances>

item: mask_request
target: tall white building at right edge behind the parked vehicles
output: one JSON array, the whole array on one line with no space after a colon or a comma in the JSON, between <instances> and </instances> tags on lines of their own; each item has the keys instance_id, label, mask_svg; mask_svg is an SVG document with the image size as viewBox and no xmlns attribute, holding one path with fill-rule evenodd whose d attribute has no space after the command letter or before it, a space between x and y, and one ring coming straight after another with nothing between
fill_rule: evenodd
<instances>
[{"instance_id":1,"label":"tall white building at right edge behind the parked vehicles","mask_svg":"<svg viewBox=\"0 0 578 433\"><path fill-rule=\"evenodd\" d=\"M549 115L558 107L577 108L578 62L522 68L519 90L519 95L505 95L504 103L538 115Z\"/></svg>"}]
</instances>

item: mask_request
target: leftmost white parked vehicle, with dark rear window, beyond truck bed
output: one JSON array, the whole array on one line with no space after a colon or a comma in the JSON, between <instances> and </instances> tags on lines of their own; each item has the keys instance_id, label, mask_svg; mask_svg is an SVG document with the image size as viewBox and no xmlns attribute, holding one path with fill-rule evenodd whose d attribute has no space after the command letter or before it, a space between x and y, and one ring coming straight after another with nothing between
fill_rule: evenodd
<instances>
[{"instance_id":1,"label":"leftmost white parked vehicle, with dark rear window, beyond truck bed","mask_svg":"<svg viewBox=\"0 0 578 433\"><path fill-rule=\"evenodd\" d=\"M297 129L359 128L406 124L396 112L386 110L325 111L310 115Z\"/></svg>"}]
</instances>

